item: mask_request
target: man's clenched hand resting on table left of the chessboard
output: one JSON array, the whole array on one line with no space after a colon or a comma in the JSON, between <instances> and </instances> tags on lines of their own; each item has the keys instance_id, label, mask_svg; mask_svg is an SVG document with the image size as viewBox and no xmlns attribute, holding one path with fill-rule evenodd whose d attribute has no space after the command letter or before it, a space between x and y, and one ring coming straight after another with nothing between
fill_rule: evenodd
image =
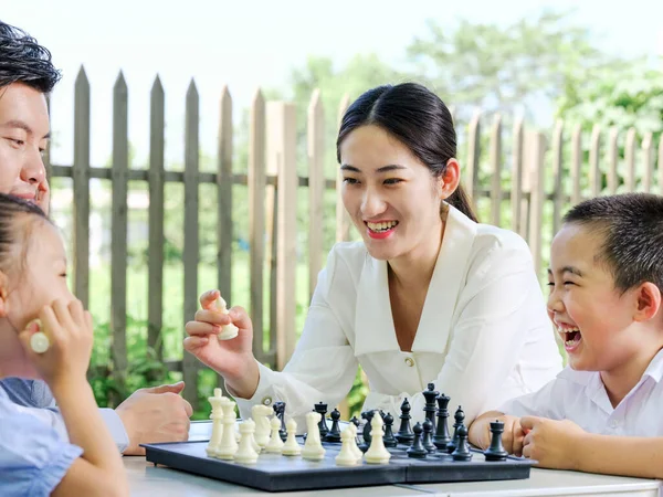
<instances>
[{"instance_id":1,"label":"man's clenched hand resting on table left of the chessboard","mask_svg":"<svg viewBox=\"0 0 663 497\"><path fill-rule=\"evenodd\" d=\"M183 389L182 381L140 389L117 406L115 412L129 436L125 455L145 455L140 444L185 442L189 438L189 417L193 410L179 395Z\"/></svg>"}]
</instances>

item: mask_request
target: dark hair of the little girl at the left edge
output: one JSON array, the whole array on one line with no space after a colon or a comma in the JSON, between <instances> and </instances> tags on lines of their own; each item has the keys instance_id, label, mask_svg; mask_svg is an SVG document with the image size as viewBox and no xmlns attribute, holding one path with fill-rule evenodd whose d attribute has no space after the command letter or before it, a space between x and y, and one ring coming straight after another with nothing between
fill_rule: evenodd
<instances>
[{"instance_id":1,"label":"dark hair of the little girl at the left edge","mask_svg":"<svg viewBox=\"0 0 663 497\"><path fill-rule=\"evenodd\" d=\"M6 268L8 264L15 264L15 261L8 261L12 252L12 247L21 244L21 261L24 261L28 250L30 233L21 233L22 236L17 236L17 221L20 215L36 215L46 222L50 222L39 205L32 202L27 202L17 197L0 193L0 267Z\"/></svg>"}]
</instances>

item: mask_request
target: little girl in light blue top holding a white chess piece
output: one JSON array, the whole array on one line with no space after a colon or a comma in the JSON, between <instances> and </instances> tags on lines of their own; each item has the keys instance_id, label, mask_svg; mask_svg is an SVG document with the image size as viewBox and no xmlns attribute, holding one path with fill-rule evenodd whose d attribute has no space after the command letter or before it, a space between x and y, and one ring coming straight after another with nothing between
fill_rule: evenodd
<instances>
[{"instance_id":1,"label":"little girl in light blue top holding a white chess piece","mask_svg":"<svg viewBox=\"0 0 663 497\"><path fill-rule=\"evenodd\" d=\"M0 390L0 495L128 495L85 378L92 339L57 230L39 207L0 194L0 378L45 380L66 426L60 433Z\"/></svg>"}]
</instances>

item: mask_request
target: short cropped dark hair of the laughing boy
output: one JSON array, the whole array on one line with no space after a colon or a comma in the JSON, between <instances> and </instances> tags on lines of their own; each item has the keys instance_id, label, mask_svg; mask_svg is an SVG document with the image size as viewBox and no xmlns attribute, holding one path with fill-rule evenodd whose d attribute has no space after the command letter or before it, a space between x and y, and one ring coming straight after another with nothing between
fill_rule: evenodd
<instances>
[{"instance_id":1,"label":"short cropped dark hair of the laughing boy","mask_svg":"<svg viewBox=\"0 0 663 497\"><path fill-rule=\"evenodd\" d=\"M565 223L603 236L597 260L606 263L622 292L651 282L663 292L663 197L624 193L597 197L572 208Z\"/></svg>"}]
</instances>

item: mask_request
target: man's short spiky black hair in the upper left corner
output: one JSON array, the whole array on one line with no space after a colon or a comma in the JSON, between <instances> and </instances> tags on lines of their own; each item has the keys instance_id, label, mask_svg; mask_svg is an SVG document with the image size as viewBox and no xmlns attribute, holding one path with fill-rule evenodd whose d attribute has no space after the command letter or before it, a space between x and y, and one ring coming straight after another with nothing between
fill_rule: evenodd
<instances>
[{"instance_id":1,"label":"man's short spiky black hair in the upper left corner","mask_svg":"<svg viewBox=\"0 0 663 497\"><path fill-rule=\"evenodd\" d=\"M24 31L0 21L0 88L23 83L50 93L60 77L48 49Z\"/></svg>"}]
</instances>

